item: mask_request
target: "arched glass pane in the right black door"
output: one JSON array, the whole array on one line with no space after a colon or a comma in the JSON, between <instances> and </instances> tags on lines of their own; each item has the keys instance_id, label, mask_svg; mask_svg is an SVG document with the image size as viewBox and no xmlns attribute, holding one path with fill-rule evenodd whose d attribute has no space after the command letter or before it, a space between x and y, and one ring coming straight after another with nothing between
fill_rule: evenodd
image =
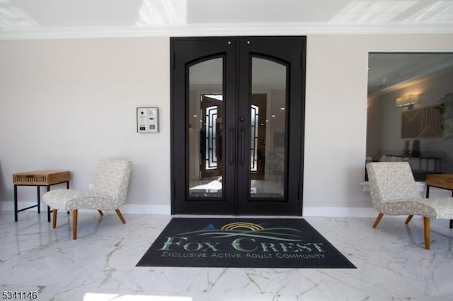
<instances>
[{"instance_id":1,"label":"arched glass pane in the right black door","mask_svg":"<svg viewBox=\"0 0 453 301\"><path fill-rule=\"evenodd\" d=\"M251 198L284 198L287 66L253 57L251 77Z\"/></svg>"}]
</instances>

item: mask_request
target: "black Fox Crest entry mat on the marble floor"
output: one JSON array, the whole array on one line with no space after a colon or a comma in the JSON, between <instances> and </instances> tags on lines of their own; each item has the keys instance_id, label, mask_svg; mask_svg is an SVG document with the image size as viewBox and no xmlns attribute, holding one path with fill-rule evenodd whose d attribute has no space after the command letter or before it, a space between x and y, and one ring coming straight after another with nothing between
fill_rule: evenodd
<instances>
[{"instance_id":1,"label":"black Fox Crest entry mat on the marble floor","mask_svg":"<svg viewBox=\"0 0 453 301\"><path fill-rule=\"evenodd\" d=\"M356 268L302 218L172 218L137 266Z\"/></svg>"}]
</instances>

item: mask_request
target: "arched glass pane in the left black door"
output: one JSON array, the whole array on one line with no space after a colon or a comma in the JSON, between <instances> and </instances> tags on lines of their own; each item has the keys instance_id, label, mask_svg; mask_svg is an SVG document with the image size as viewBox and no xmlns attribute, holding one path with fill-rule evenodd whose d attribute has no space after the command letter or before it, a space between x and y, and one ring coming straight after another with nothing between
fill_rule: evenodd
<instances>
[{"instance_id":1,"label":"arched glass pane in the left black door","mask_svg":"<svg viewBox=\"0 0 453 301\"><path fill-rule=\"evenodd\" d=\"M222 197L223 58L189 67L189 196Z\"/></svg>"}]
</instances>

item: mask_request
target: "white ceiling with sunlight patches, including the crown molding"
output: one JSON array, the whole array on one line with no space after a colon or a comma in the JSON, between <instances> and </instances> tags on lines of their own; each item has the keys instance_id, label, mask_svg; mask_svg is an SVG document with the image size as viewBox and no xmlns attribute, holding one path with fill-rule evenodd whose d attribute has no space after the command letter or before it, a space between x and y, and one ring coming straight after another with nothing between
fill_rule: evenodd
<instances>
[{"instance_id":1,"label":"white ceiling with sunlight patches, including the crown molding","mask_svg":"<svg viewBox=\"0 0 453 301\"><path fill-rule=\"evenodd\" d=\"M0 0L0 40L453 33L452 0Z\"/></svg>"}]
</instances>

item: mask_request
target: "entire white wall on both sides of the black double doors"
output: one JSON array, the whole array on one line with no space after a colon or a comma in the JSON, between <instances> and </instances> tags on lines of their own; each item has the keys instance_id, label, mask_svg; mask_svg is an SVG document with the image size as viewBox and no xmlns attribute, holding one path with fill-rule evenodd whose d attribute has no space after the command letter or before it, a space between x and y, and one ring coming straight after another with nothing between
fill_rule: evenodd
<instances>
[{"instance_id":1,"label":"entire white wall on both sides of the black double doors","mask_svg":"<svg viewBox=\"0 0 453 301\"><path fill-rule=\"evenodd\" d=\"M452 51L453 36L307 37L306 216L374 215L360 182L377 50ZM169 212L169 69L168 37L1 41L0 210L12 208L14 172L69 169L71 187L86 189L98 161L115 157L134 163L126 209ZM139 105L160 108L159 134L137 134Z\"/></svg>"}]
</instances>

